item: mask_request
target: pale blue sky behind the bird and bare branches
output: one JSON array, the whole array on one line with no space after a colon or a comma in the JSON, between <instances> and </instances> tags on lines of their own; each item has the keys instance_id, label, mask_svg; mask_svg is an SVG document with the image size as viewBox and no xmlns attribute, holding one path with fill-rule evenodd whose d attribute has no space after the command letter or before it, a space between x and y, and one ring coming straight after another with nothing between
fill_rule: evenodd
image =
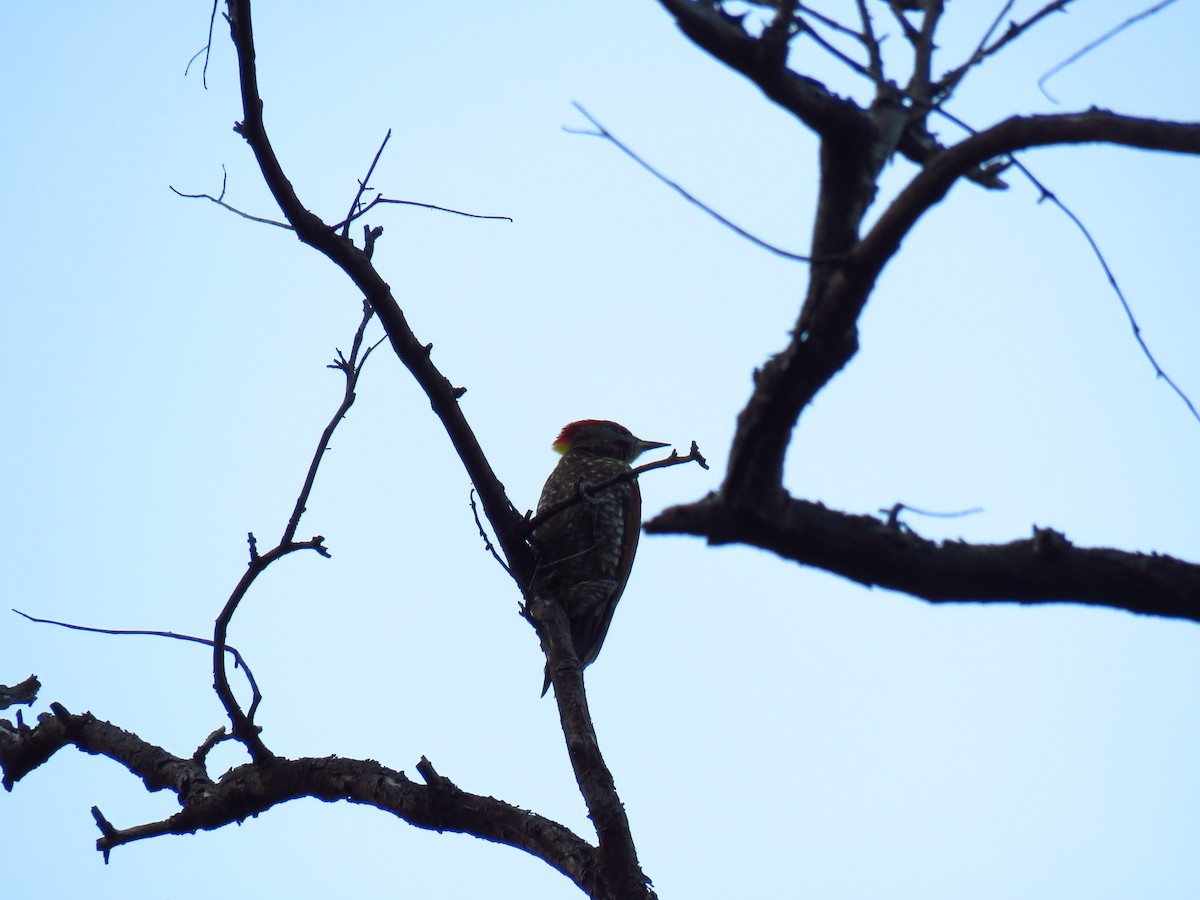
<instances>
[{"instance_id":1,"label":"pale blue sky behind the bird and bare branches","mask_svg":"<svg viewBox=\"0 0 1200 900\"><path fill-rule=\"evenodd\" d=\"M947 62L998 6L948 4ZM954 112L976 126L1093 104L1200 119L1200 10L1186 0L1056 77L1052 106L1037 78L1142 4L1078 7L967 82ZM534 504L558 428L588 416L680 449L696 439L714 463L644 479L649 512L713 488L805 269L562 126L584 125L581 102L800 252L811 136L649 0L254 12L266 125L311 209L340 218L392 128L376 187L514 217L371 218L385 227L380 271L468 388L514 500ZM349 344L353 287L290 234L168 190L215 192L224 166L230 203L277 215L232 132L222 26L209 90L184 77L206 14L0 11L5 608L209 634L246 532L262 545L282 533L337 404L324 365ZM1200 400L1196 161L1078 148L1026 162L1087 222L1160 362ZM887 191L912 172L893 164ZM787 482L856 512L983 508L911 520L930 536L1006 541L1037 524L1195 559L1198 448L1200 424L1154 379L1084 240L1014 176L1006 194L956 187L906 241L858 358L802 419ZM538 698L536 638L449 450L380 349L300 529L325 535L332 559L277 565L230 631L265 694L264 738L414 776L426 755L466 790L590 836L553 703ZM7 614L0 659L0 682L42 679L35 712L90 709L181 755L224 721L199 648ZM758 551L646 538L588 685L664 899L1123 900L1200 895L1198 677L1187 623L934 608ZM221 751L212 768L240 761ZM106 868L94 804L121 827L175 808L115 763L60 754L0 797L13 895L577 895L517 851L312 800L121 847Z\"/></svg>"}]
</instances>

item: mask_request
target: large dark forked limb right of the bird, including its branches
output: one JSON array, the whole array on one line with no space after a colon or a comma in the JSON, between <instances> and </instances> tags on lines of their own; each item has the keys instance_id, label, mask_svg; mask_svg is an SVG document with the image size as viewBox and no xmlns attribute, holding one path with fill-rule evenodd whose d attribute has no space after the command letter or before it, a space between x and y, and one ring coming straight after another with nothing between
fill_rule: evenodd
<instances>
[{"instance_id":1,"label":"large dark forked limb right of the bird, including its branches","mask_svg":"<svg viewBox=\"0 0 1200 900\"><path fill-rule=\"evenodd\" d=\"M832 540L822 552L812 550L808 544L800 544L802 539L816 544L826 540L824 535L814 530L817 524L826 527L828 534L839 538L844 536L845 529L834 528L840 520L834 520L832 523L821 520L814 523L816 514L811 512L804 502L787 496L782 486L782 470L792 430L804 407L857 353L858 317L883 266L896 253L900 242L924 212L940 203L959 179L976 176L988 184L995 178L995 172L1006 164L1012 164L1007 162L1012 154L1034 146L1098 142L1146 150L1200 154L1200 125L1138 119L1091 109L1060 116L1013 116L967 137L954 146L941 146L929 134L925 118L930 112L938 110L946 91L958 83L970 65L976 65L984 56L1010 44L1051 12L1063 8L1069 0L1046 4L1028 19L1013 23L1002 37L991 41L990 35L996 28L994 23L970 65L960 67L956 73L952 73L953 77L943 77L936 84L931 83L930 68L935 47L934 28L940 16L941 2L931 0L923 4L920 28L908 22L900 4L890 2L895 18L904 24L905 35L913 47L916 61L912 82L900 91L894 89L882 73L872 73L878 91L872 108L860 110L853 104L845 103L836 115L830 114L829 119L815 115L811 108L803 104L788 106L788 97L778 90L781 76L763 64L763 52L752 46L755 38L745 34L740 22L721 16L720 11L704 8L703 4L689 4L685 0L660 1L677 14L680 28L698 46L755 80L769 97L780 106L790 108L820 133L821 191L814 228L811 256L814 262L808 295L788 346L755 372L754 391L738 415L721 491L697 503L667 510L650 522L647 530L703 534L712 542L738 540L754 544L864 583L880 583L929 599L942 599L936 595L938 590L936 584L944 583L954 584L949 589L952 593L959 592L955 593L959 599L973 599L976 594L971 592L976 587L984 592L983 596L991 596L986 594L988 584L991 583L990 575L980 577L978 583L970 578L955 581L944 575L922 582L907 570L889 569L882 564L878 571L864 572L862 566L856 569L852 559L847 562L839 557L838 546ZM864 19L868 20L869 17ZM866 24L863 35L864 40L870 37ZM900 106L901 103L908 104L907 112ZM854 118L860 120L859 126L841 126L842 122ZM838 126L830 126L830 122L836 122ZM896 132L898 124L899 132ZM847 137L854 133L860 134L862 139L854 140ZM918 160L923 168L894 198L870 230L859 236L858 227L875 196L876 176L894 151ZM1002 182L994 181L989 186L1002 186ZM1044 187L1042 190L1044 197L1052 198ZM1094 242L1092 244L1094 247ZM1106 266L1105 272L1116 288ZM1128 304L1123 295L1118 296L1129 316ZM1146 349L1132 316L1130 322L1139 343ZM1150 359L1156 373L1165 378L1165 373L1153 358ZM1190 401L1174 382L1171 386L1195 414ZM845 514L826 512L829 516L845 516ZM874 523L872 527L878 526L874 520L869 521ZM886 533L864 529L865 526L850 535L860 539L857 542L851 541L858 556L870 558L865 554L871 546L868 540L871 535L881 541L881 546L875 551L876 556L886 556L887 546L882 542L890 540L882 536ZM1038 534L1040 538L1036 541L1036 548L1039 553L1050 544L1055 546L1060 544L1049 538L1055 534L1049 529L1042 529ZM1070 548L1066 539L1061 544ZM1079 553L1084 551L1070 550L1072 552L1067 554L1069 568L1072 571L1078 570L1079 578L1088 578L1087 566L1100 558L1080 557ZM976 551L976 554L968 556L968 562L978 562L980 572L994 574L988 560L996 557L997 551L988 547L972 548L967 545L955 545L948 551L940 551L942 556L936 558L916 551L912 558L925 559L934 566L953 557L950 562L958 564L962 562L962 553L970 554L972 551ZM1013 545L1007 554L1000 557L1006 564L1015 564L1025 552L1028 550ZM1117 568L1128 577L1121 578L1118 577L1121 572L1111 572L1112 580L1109 587L1103 583L1080 587L1057 570L1051 572L1042 570L1028 575L1016 586L1000 578L996 583L1003 587L991 589L1007 590L1012 587L1013 590L1022 592L1019 599L1032 598L1038 601L1069 599L1192 618L1194 611L1183 602L1188 595L1186 589L1181 593L1180 586L1187 583L1194 569L1178 560L1171 560L1166 566L1170 571L1165 575L1156 569L1150 580L1158 587L1147 589L1157 589L1157 599L1146 601L1138 596L1129 598L1126 590L1130 584L1145 587L1136 580L1142 562L1144 559L1136 554L1122 557ZM1108 571L1103 562L1094 564L1098 571ZM1115 584L1122 588L1114 589L1111 586ZM1062 592L1068 592L1069 595L1063 596Z\"/></svg>"}]
</instances>

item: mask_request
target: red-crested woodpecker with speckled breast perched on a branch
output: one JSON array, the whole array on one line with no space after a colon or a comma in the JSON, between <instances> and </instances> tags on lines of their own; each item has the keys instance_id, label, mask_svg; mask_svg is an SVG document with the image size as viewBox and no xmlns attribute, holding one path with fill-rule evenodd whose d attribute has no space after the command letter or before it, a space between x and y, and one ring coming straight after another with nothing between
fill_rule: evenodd
<instances>
[{"instance_id":1,"label":"red-crested woodpecker with speckled breast perched on a branch","mask_svg":"<svg viewBox=\"0 0 1200 900\"><path fill-rule=\"evenodd\" d=\"M629 472L630 463L647 450L668 445L636 438L617 422L584 419L563 428L553 446L563 458L541 488L538 515L578 497L581 488L583 498L533 533L538 556L534 589L551 593L564 606L575 654L580 666L587 666L595 661L608 634L642 530L642 493L636 479L596 493L589 491ZM547 662L541 696L548 688Z\"/></svg>"}]
</instances>

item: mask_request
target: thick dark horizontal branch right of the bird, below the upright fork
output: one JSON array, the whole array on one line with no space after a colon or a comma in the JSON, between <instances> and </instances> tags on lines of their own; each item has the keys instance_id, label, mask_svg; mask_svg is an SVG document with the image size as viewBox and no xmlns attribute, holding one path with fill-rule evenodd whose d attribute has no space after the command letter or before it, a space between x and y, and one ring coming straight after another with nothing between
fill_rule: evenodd
<instances>
[{"instance_id":1,"label":"thick dark horizontal branch right of the bird, below the upright fork","mask_svg":"<svg viewBox=\"0 0 1200 900\"><path fill-rule=\"evenodd\" d=\"M665 510L646 530L749 544L931 602L1074 602L1200 622L1200 565L1157 553L1076 547L1044 528L1010 544L936 542L808 500L733 509L714 494Z\"/></svg>"}]
</instances>

